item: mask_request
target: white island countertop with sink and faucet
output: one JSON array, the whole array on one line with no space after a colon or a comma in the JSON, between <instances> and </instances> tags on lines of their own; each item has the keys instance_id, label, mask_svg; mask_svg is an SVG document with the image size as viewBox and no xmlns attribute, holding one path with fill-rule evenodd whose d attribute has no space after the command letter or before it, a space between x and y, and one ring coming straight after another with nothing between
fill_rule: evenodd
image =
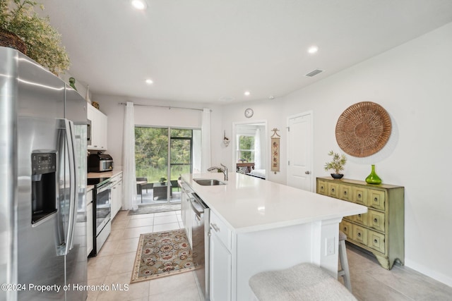
<instances>
[{"instance_id":1,"label":"white island countertop with sink and faucet","mask_svg":"<svg viewBox=\"0 0 452 301\"><path fill-rule=\"evenodd\" d=\"M184 174L185 182L237 233L261 231L367 212L367 207L268 180L229 173ZM227 185L202 186L194 178L215 178Z\"/></svg>"}]
</instances>

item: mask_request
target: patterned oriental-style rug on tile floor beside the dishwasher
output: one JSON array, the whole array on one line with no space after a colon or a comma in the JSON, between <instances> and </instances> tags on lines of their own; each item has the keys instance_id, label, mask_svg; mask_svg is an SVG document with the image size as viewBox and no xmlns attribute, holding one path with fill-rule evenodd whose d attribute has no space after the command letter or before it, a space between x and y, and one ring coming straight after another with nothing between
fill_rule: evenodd
<instances>
[{"instance_id":1,"label":"patterned oriental-style rug on tile floor beside the dishwasher","mask_svg":"<svg viewBox=\"0 0 452 301\"><path fill-rule=\"evenodd\" d=\"M131 283L194 270L184 229L140 235Z\"/></svg>"}]
</instances>

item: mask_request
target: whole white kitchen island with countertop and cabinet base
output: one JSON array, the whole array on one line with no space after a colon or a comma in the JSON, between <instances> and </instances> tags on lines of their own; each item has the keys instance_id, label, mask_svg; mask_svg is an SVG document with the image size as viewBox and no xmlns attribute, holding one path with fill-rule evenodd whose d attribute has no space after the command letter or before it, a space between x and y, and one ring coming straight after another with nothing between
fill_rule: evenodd
<instances>
[{"instance_id":1,"label":"whole white kitchen island with countertop and cabinet base","mask_svg":"<svg viewBox=\"0 0 452 301\"><path fill-rule=\"evenodd\" d=\"M196 178L225 185L203 186ZM301 262L337 277L339 223L367 212L359 204L239 173L229 173L227 181L222 173L185 174L182 180L210 208L211 300L249 300L251 276Z\"/></svg>"}]
</instances>

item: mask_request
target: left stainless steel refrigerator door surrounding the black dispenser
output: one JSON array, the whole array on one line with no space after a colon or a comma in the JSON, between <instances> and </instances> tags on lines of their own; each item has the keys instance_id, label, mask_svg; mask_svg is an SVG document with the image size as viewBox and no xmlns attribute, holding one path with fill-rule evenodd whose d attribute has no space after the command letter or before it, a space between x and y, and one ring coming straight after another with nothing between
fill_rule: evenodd
<instances>
[{"instance_id":1,"label":"left stainless steel refrigerator door surrounding the black dispenser","mask_svg":"<svg viewBox=\"0 0 452 301\"><path fill-rule=\"evenodd\" d=\"M39 172L32 171L34 155L54 154L58 158L61 154L59 124L64 118L64 82L22 54L16 54L15 62L18 69L13 80L17 86L10 97L15 100L18 113L17 281L27 286L27 290L18 292L18 300L64 300L65 257L59 255L64 243L59 214L66 211L69 202L61 197L65 193L59 193L59 188L66 183L65 173L59 171L64 164L56 160L55 181L49 185L47 183L51 183L49 178L52 176L42 181ZM41 159L46 161L49 157L43 155ZM47 195L47 190L53 190L53 193ZM36 192L34 197L41 199L35 210L41 205L57 209L36 223L32 223L33 192ZM54 289L40 292L35 290L36 285L52 285Z\"/></svg>"}]
</instances>

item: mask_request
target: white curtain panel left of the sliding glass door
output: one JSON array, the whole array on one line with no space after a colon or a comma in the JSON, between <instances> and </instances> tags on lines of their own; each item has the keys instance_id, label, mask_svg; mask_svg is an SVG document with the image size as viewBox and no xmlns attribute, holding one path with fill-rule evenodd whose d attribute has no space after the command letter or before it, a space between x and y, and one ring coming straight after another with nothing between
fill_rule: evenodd
<instances>
[{"instance_id":1,"label":"white curtain panel left of the sliding glass door","mask_svg":"<svg viewBox=\"0 0 452 301\"><path fill-rule=\"evenodd\" d=\"M126 103L124 113L124 141L122 150L123 162L123 192L122 209L138 209L136 201L135 176L135 113L133 102Z\"/></svg>"}]
</instances>

